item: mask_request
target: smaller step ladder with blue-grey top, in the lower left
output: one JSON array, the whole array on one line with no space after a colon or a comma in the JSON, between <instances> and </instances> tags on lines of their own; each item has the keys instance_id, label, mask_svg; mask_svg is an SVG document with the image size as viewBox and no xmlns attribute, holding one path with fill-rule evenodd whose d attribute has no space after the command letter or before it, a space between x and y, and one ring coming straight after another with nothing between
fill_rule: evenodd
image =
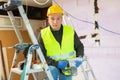
<instances>
[{"instance_id":1,"label":"smaller step ladder with blue-grey top, in the lower left","mask_svg":"<svg viewBox=\"0 0 120 80\"><path fill-rule=\"evenodd\" d=\"M32 55L34 53L34 50L39 48L39 45L31 45L31 46L30 45L31 45L30 43L22 43L22 44L16 44L15 46L13 46L13 48L15 48L15 53L14 53L15 55L14 55L13 62L12 62L9 80L12 80L13 73L17 73L17 74L22 75L21 80L28 80L28 77L29 77L28 74L32 74L34 77L34 80L37 80L37 76L35 76L35 73L44 71L42 66L39 69L31 68ZM20 69L19 67L15 67L19 54L21 52L23 53L26 50L26 48L28 48L28 47L29 47L29 50L28 50L27 58L25 60L24 69Z\"/></svg>"}]
</instances>

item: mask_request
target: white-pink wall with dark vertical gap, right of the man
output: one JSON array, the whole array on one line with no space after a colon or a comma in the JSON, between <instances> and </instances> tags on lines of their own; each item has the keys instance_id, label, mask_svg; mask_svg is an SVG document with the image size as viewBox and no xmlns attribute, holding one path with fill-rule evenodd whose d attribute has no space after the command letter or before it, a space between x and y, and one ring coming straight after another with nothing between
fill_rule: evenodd
<instances>
[{"instance_id":1,"label":"white-pink wall with dark vertical gap, right of the man","mask_svg":"<svg viewBox=\"0 0 120 80\"><path fill-rule=\"evenodd\" d=\"M94 31L94 0L54 0L67 13L79 36ZM53 3L55 3L53 2ZM97 80L119 80L120 76L120 0L98 0L100 43L81 40ZM77 19L76 19L77 18ZM79 20L78 20L79 19ZM68 22L69 24L70 21Z\"/></svg>"}]
</instances>

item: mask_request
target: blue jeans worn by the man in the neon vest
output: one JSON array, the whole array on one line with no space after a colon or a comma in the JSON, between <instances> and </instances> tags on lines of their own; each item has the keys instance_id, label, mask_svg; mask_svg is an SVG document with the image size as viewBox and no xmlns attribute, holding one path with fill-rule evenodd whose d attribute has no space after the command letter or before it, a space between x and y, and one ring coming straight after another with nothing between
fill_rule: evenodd
<instances>
[{"instance_id":1,"label":"blue jeans worn by the man in the neon vest","mask_svg":"<svg viewBox=\"0 0 120 80\"><path fill-rule=\"evenodd\" d=\"M59 72L59 69L55 66L49 66L50 72L54 80L72 80L72 76L65 76ZM46 80L49 80L46 78Z\"/></svg>"}]
</instances>

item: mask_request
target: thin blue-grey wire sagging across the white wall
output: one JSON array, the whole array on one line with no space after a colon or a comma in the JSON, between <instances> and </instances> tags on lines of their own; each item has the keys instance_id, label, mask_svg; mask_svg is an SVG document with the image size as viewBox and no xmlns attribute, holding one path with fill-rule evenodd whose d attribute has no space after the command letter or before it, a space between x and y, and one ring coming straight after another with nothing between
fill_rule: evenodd
<instances>
[{"instance_id":1,"label":"thin blue-grey wire sagging across the white wall","mask_svg":"<svg viewBox=\"0 0 120 80\"><path fill-rule=\"evenodd\" d=\"M60 6L55 0L53 0L53 2L55 2L58 6ZM63 10L64 10L64 9L63 9ZM94 25L93 22L79 19L79 18L73 16L72 14L68 13L68 12L65 11L65 10L64 10L64 12L67 13L67 14L69 14L69 15L70 15L73 19L75 19L75 20L78 20L78 21L81 21L81 22L85 22L85 23L89 23L89 24L93 24L93 25ZM99 28L101 28L101 29L103 29L104 31L107 31L107 32L109 32L109 33L112 33L112 34L115 34L115 35L119 35L119 36L120 36L120 33L119 33L119 32L115 32L115 31L106 29L106 28L104 28L104 27L102 27L102 26L100 26L100 25L99 25Z\"/></svg>"}]
</instances>

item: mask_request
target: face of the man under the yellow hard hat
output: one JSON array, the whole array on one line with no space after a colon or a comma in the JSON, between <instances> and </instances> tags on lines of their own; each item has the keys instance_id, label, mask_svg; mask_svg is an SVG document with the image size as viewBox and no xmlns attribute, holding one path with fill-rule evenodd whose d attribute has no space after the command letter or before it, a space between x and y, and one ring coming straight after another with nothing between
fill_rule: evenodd
<instances>
[{"instance_id":1,"label":"face of the man under the yellow hard hat","mask_svg":"<svg viewBox=\"0 0 120 80\"><path fill-rule=\"evenodd\" d=\"M48 16L48 22L52 30L58 31L62 24L62 14L50 14Z\"/></svg>"}]
</instances>

